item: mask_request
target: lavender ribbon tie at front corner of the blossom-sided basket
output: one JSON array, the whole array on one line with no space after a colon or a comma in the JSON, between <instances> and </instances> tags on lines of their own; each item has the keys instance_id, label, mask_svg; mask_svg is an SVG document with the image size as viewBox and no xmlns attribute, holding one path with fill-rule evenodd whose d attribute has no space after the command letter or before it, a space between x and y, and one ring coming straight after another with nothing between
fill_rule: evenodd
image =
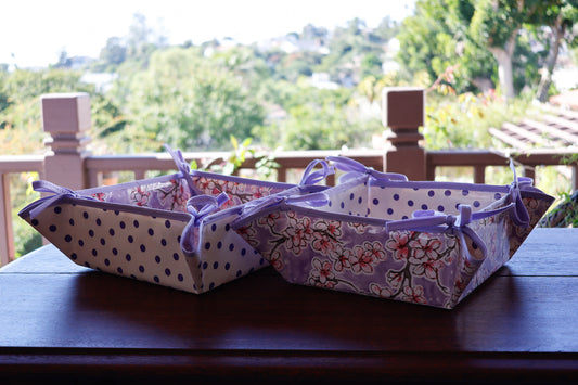
<instances>
[{"instance_id":1,"label":"lavender ribbon tie at front corner of the blossom-sided basket","mask_svg":"<svg viewBox=\"0 0 578 385\"><path fill-rule=\"evenodd\" d=\"M460 214L458 216L445 215L435 210L418 210L414 211L411 219L406 220L395 220L386 222L387 232L399 231L399 230L410 230L410 231L422 231L422 232L445 232L454 236L460 238L460 241L464 245L465 256L467 260L474 264L480 264L487 256L487 248L484 241L472 230L468 224L472 220L479 219L478 216L489 216L490 214L472 211L470 205L459 205L458 209ZM492 215L496 213L491 213ZM480 253L481 258L475 258L466 246L465 235L467 235L473 244L475 244Z\"/></svg>"}]
</instances>

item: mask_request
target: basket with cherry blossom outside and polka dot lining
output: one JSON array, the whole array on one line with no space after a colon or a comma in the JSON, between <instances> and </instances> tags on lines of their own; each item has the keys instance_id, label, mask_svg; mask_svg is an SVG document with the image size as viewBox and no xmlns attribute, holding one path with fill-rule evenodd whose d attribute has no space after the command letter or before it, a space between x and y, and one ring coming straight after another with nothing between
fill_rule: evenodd
<instances>
[{"instance_id":1,"label":"basket with cherry blossom outside and polka dot lining","mask_svg":"<svg viewBox=\"0 0 578 385\"><path fill-rule=\"evenodd\" d=\"M233 222L292 283L452 309L513 256L553 202L513 167L512 184L488 185L408 181L327 161L346 174L317 204L270 197Z\"/></svg>"}]
</instances>

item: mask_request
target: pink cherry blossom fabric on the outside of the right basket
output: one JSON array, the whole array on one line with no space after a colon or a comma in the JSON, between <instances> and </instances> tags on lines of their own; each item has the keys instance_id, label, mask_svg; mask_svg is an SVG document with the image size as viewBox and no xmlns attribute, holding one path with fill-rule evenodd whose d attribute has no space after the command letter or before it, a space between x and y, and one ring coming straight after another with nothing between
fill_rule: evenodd
<instances>
[{"instance_id":1,"label":"pink cherry blossom fabric on the outside of the right basket","mask_svg":"<svg viewBox=\"0 0 578 385\"><path fill-rule=\"evenodd\" d=\"M359 206L364 197L357 196L349 200L341 190L331 206L335 210L344 197ZM468 224L486 245L486 256L468 236L388 232L359 215L344 218L298 206L264 210L237 232L288 282L451 309L511 258L551 201L525 197L523 203L530 216L527 228L515 226L508 211Z\"/></svg>"}]
</instances>

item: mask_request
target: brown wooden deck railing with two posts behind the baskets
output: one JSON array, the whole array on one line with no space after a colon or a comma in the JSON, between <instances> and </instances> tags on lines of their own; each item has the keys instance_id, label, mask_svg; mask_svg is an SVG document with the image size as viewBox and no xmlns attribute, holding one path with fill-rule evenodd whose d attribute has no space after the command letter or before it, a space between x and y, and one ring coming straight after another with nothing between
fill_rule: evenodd
<instances>
[{"instance_id":1,"label":"brown wooden deck railing with two posts behind the baskets","mask_svg":"<svg viewBox=\"0 0 578 385\"><path fill-rule=\"evenodd\" d=\"M393 93L395 95L395 92ZM409 94L409 97L408 97ZM423 125L423 103L416 103L423 94L411 89L408 94L400 93L400 100L384 94L384 125L393 129L388 151L290 151L275 154L278 181L288 181L292 170L303 170L311 161L329 155L343 155L361 162L376 170L406 174L411 180L435 180L438 167L472 167L473 182L486 181L488 166L508 167L509 156L493 151L425 151L418 145L421 136L418 127ZM421 95L421 97L420 97ZM396 95L397 98L397 95ZM409 98L409 99L408 99ZM413 98L413 99L412 99ZM14 236L9 176L18 172L38 172L40 178L73 190L103 184L103 176L114 171L131 171L133 179L146 178L147 171L176 170L168 153L137 155L91 155L87 150L90 138L85 136L90 127L90 103L88 94L51 94L41 99L44 131L52 140L51 152L46 156L0 156L0 266L14 258ZM387 104L388 103L388 104ZM418 111L404 108L411 106ZM387 113L389 111L389 113ZM409 118L407 118L409 117ZM184 153L187 161L203 165L206 159L226 158L229 153ZM576 190L576 151L535 151L531 154L510 154L524 174L535 177L539 165L568 165L573 167L573 187ZM254 169L256 159L247 159L242 168ZM294 175L300 175L296 171ZM293 182L296 182L293 181ZM333 184L329 179L327 183Z\"/></svg>"}]
</instances>

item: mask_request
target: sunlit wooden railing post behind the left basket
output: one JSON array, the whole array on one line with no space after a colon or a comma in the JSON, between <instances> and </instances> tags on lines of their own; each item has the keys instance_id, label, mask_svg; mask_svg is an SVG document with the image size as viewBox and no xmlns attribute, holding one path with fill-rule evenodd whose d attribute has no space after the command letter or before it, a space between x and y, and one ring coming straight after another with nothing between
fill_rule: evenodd
<instances>
[{"instance_id":1,"label":"sunlit wooden railing post behind the left basket","mask_svg":"<svg viewBox=\"0 0 578 385\"><path fill-rule=\"evenodd\" d=\"M44 178L72 190L88 187L85 158L91 127L88 93L49 93L40 98L42 125L51 138L44 161Z\"/></svg>"}]
</instances>

